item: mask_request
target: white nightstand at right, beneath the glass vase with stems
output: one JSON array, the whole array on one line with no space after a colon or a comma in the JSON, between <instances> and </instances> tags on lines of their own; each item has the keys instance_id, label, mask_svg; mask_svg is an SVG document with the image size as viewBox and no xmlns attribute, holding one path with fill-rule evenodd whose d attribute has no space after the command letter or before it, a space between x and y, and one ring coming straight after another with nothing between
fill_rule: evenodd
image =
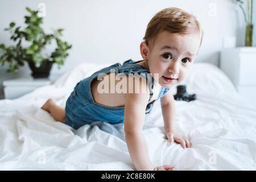
<instances>
[{"instance_id":1,"label":"white nightstand at right, beneath the glass vase with stems","mask_svg":"<svg viewBox=\"0 0 256 182\"><path fill-rule=\"evenodd\" d=\"M238 93L256 108L256 47L237 47L221 51L220 68Z\"/></svg>"}]
</instances>

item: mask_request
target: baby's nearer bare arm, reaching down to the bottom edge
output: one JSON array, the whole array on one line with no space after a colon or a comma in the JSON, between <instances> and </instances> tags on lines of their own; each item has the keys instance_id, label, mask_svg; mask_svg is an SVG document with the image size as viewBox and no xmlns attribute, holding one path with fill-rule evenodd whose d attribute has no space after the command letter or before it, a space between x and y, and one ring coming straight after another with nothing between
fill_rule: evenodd
<instances>
[{"instance_id":1,"label":"baby's nearer bare arm, reaching down to the bottom edge","mask_svg":"<svg viewBox=\"0 0 256 182\"><path fill-rule=\"evenodd\" d=\"M142 84L142 86L148 89L147 93L127 93L126 96L124 129L131 160L137 170L172 170L173 167L168 165L154 168L148 156L146 141L142 131L149 98L149 88L145 84Z\"/></svg>"}]
</instances>

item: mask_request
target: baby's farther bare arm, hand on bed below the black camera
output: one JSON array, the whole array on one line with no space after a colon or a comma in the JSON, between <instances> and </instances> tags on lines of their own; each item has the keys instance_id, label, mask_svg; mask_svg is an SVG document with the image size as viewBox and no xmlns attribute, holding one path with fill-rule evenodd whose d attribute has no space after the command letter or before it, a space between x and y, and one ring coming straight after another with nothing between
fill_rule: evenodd
<instances>
[{"instance_id":1,"label":"baby's farther bare arm, hand on bed below the black camera","mask_svg":"<svg viewBox=\"0 0 256 182\"><path fill-rule=\"evenodd\" d=\"M174 95L171 90L167 92L165 96L160 98L163 119L164 119L164 128L166 130L166 137L168 142L172 143L176 141L180 143L183 148L191 147L190 141L185 137L180 137L175 131L175 120L176 120L176 106Z\"/></svg>"}]
</instances>

